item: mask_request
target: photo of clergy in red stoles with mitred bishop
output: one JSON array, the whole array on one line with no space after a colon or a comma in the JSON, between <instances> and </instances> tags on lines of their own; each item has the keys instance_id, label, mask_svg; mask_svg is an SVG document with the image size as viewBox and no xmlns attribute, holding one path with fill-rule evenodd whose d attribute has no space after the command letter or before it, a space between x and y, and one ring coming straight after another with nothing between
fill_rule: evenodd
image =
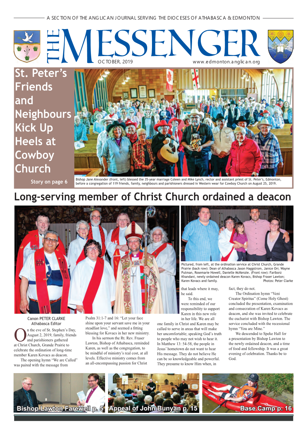
<instances>
[{"instance_id":1,"label":"photo of clergy in red stoles with mitred bishop","mask_svg":"<svg viewBox=\"0 0 307 437\"><path fill-rule=\"evenodd\" d=\"M15 207L15 314L178 314L178 206Z\"/></svg>"}]
</instances>

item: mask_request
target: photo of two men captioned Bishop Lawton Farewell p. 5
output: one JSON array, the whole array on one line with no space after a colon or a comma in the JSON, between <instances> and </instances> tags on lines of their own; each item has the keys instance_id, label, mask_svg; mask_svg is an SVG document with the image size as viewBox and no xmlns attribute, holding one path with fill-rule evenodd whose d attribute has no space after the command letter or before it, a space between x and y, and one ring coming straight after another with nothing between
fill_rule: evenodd
<instances>
[{"instance_id":1,"label":"photo of two men captioned Bishop Lawton Farewell p. 5","mask_svg":"<svg viewBox=\"0 0 307 437\"><path fill-rule=\"evenodd\" d=\"M104 413L105 379L104 373L14 373L14 413Z\"/></svg>"}]
</instances>

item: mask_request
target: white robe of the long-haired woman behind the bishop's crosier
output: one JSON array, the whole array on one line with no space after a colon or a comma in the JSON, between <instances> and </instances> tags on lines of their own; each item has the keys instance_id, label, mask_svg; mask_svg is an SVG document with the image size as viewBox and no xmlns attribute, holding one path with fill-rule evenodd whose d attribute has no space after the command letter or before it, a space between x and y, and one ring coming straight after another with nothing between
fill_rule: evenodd
<instances>
[{"instance_id":1,"label":"white robe of the long-haired woman behind the bishop's crosier","mask_svg":"<svg viewBox=\"0 0 307 437\"><path fill-rule=\"evenodd\" d=\"M151 243L147 246L148 253L154 255L155 250L162 246L162 241L159 243ZM165 269L160 273L161 292L163 301L164 314L178 314L177 298L176 298L176 252L170 244L155 257L158 267Z\"/></svg>"}]
</instances>

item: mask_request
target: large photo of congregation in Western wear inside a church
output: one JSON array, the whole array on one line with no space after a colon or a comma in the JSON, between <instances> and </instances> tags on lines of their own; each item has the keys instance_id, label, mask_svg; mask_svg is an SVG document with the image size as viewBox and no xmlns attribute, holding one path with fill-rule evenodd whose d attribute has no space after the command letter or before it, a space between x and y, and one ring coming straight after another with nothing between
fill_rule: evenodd
<instances>
[{"instance_id":1,"label":"large photo of congregation in Western wear inside a church","mask_svg":"<svg viewBox=\"0 0 307 437\"><path fill-rule=\"evenodd\" d=\"M293 69L76 69L75 177L293 174Z\"/></svg>"}]
</instances>

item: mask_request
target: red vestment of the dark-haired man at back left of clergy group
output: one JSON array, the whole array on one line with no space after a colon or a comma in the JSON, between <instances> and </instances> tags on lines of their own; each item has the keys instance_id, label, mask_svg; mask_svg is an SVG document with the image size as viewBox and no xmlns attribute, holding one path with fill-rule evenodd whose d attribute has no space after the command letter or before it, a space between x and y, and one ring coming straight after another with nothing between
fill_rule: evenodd
<instances>
[{"instance_id":1,"label":"red vestment of the dark-haired man at back left of clergy group","mask_svg":"<svg viewBox=\"0 0 307 437\"><path fill-rule=\"evenodd\" d=\"M24 248L30 243L31 249L38 250L39 249L39 233L38 230L30 231L22 240L21 246L18 250L17 261L16 261L16 274L15 274L15 314L21 314L19 306L20 306L20 283L21 280L19 278L19 274L24 265ZM64 245L62 241L59 239L59 245L57 249L63 255L66 255Z\"/></svg>"}]
</instances>

